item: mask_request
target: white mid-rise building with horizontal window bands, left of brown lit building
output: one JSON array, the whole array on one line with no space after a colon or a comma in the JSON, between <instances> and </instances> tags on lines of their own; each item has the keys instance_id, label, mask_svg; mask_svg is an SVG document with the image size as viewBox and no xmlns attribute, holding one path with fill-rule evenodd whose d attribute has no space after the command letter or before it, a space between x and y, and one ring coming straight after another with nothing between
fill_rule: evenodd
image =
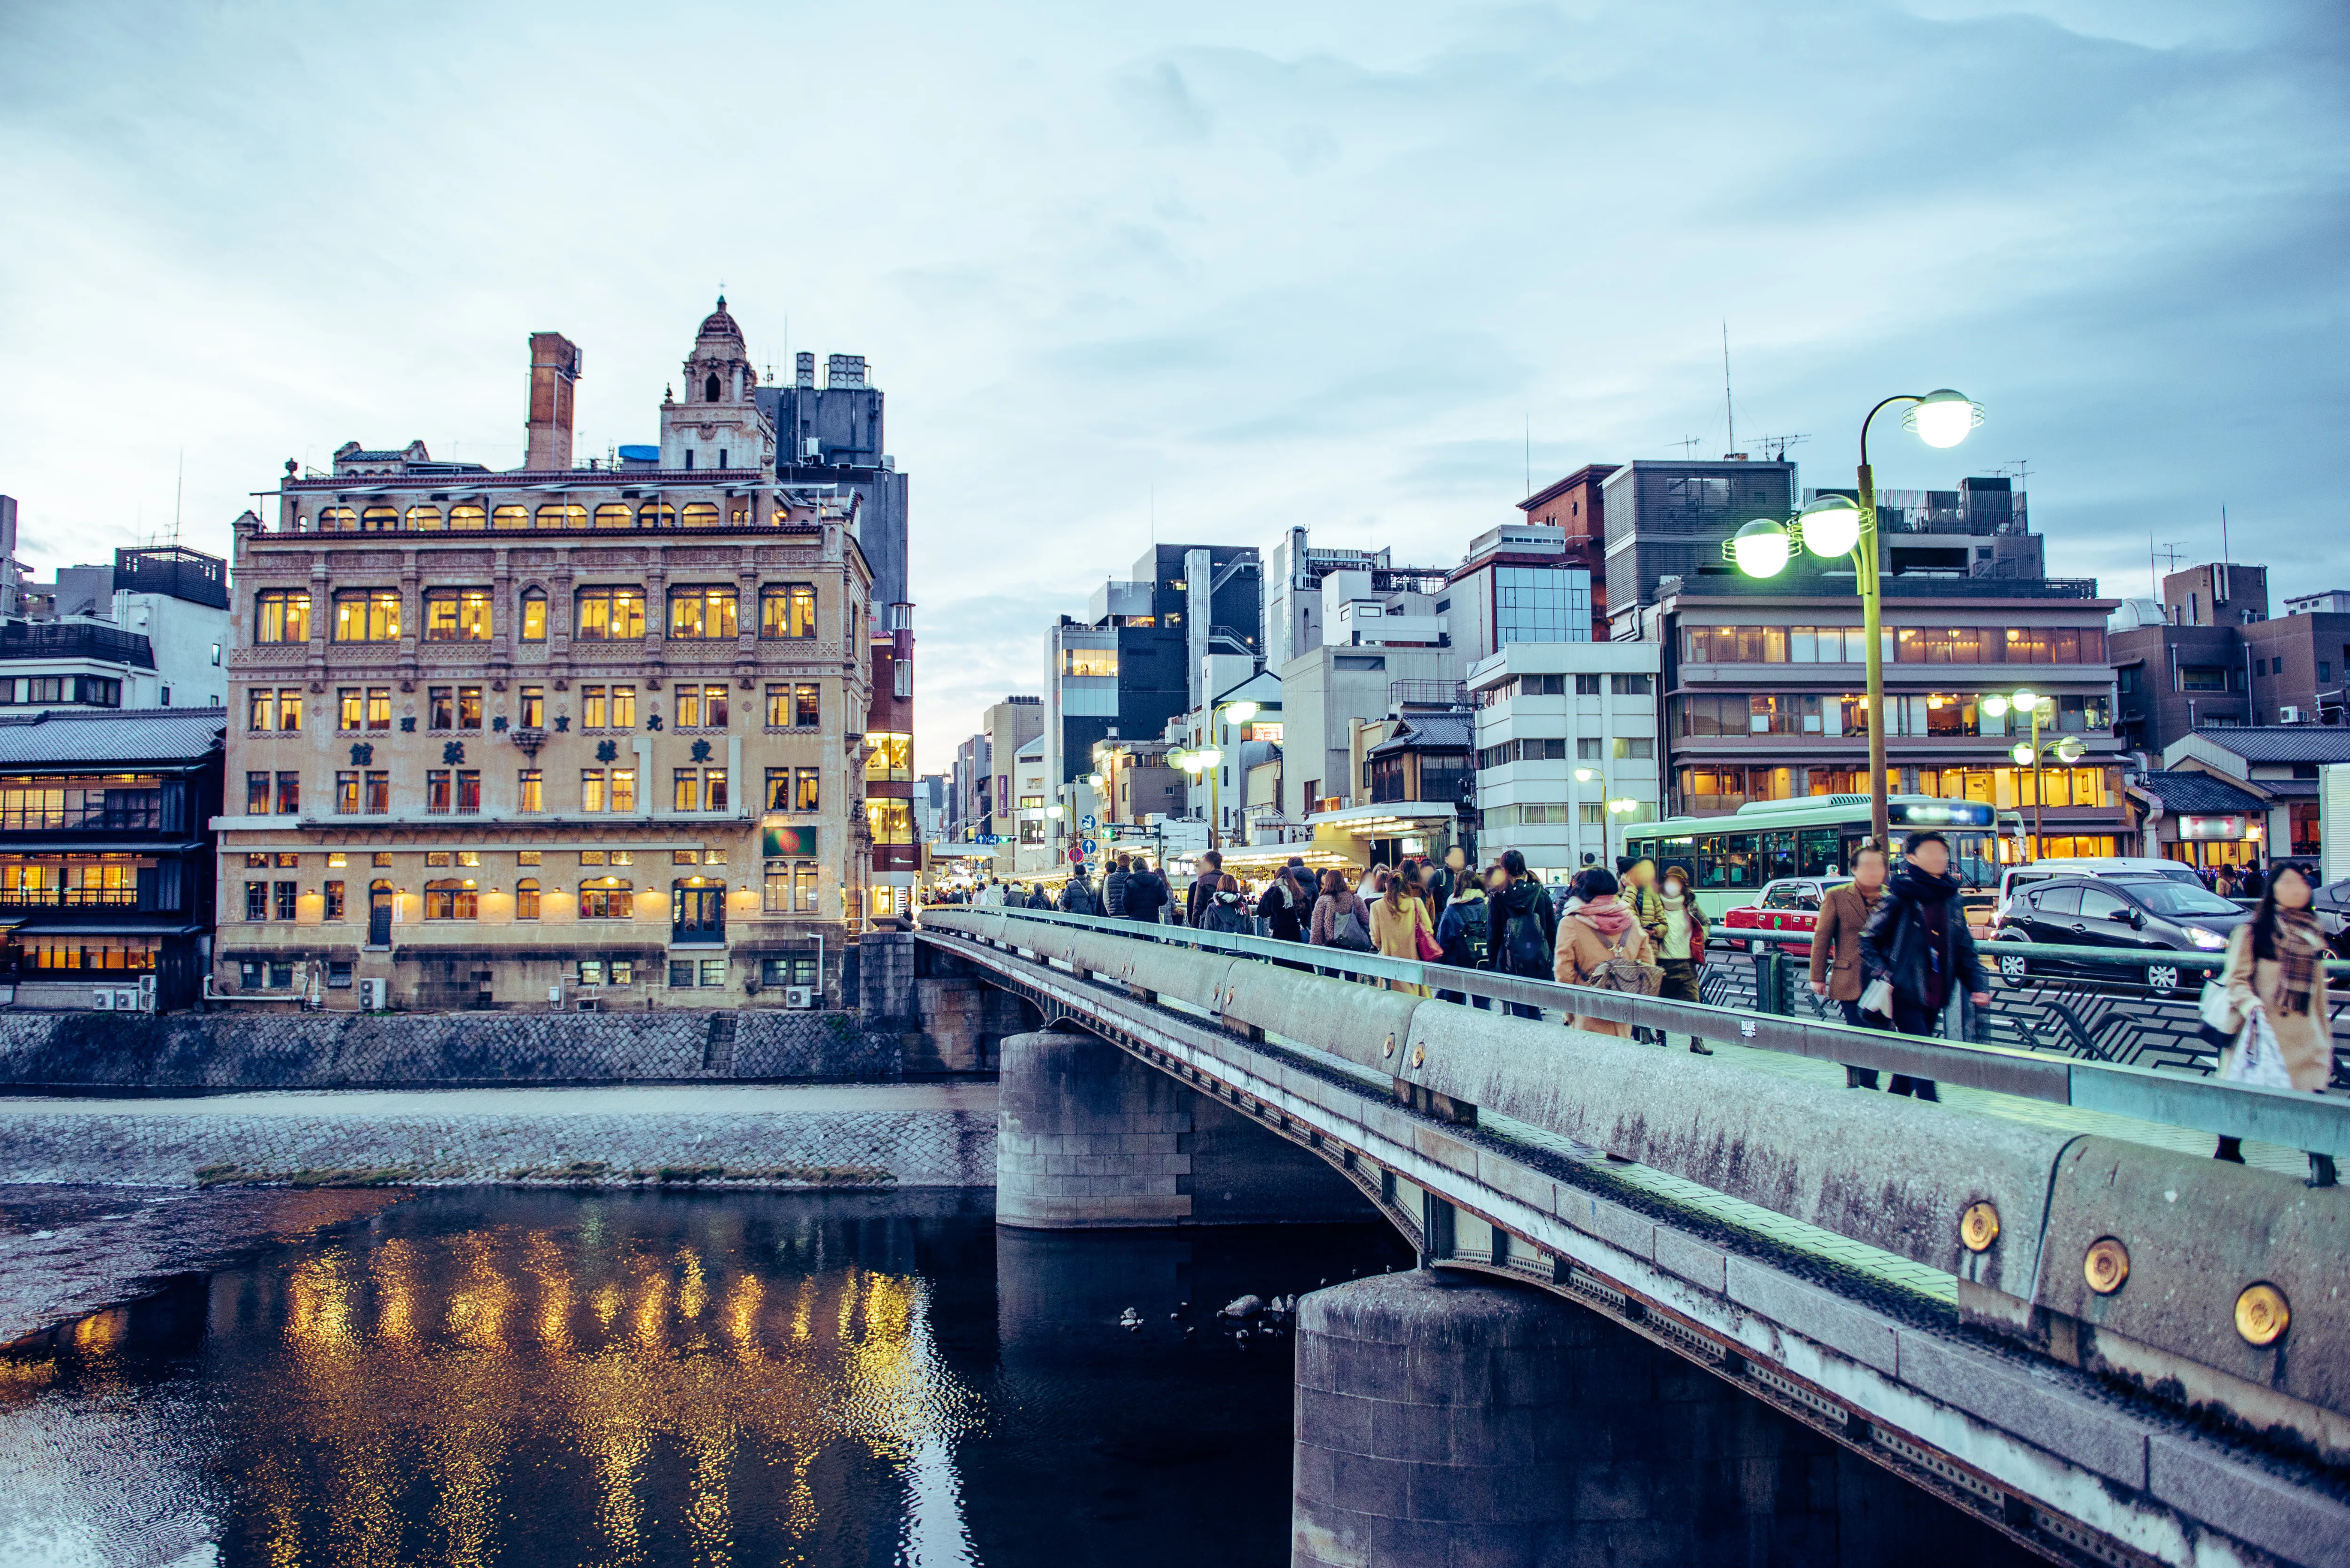
<instances>
[{"instance_id":1,"label":"white mid-rise building with horizontal window bands, left of brown lit building","mask_svg":"<svg viewBox=\"0 0 2350 1568\"><path fill-rule=\"evenodd\" d=\"M1659 816L1654 642L1518 642L1469 670L1478 858L1516 849L1544 879L1614 870Z\"/></svg>"}]
</instances>

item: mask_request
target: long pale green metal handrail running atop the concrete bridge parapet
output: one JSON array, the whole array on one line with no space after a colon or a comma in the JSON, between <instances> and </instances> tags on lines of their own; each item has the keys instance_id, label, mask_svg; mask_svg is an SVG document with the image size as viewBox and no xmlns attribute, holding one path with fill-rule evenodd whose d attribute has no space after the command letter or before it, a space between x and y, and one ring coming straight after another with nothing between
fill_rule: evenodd
<instances>
[{"instance_id":1,"label":"long pale green metal handrail running atop the concrete bridge parapet","mask_svg":"<svg viewBox=\"0 0 2350 1568\"><path fill-rule=\"evenodd\" d=\"M2153 1067L2120 1063L2084 1063L2005 1046L1979 1046L1887 1030L1856 1030L1840 1023L1812 1023L1777 1013L1746 1013L1706 1001L1666 1001L1629 997L1589 985L1563 985L1528 976L1502 976L1490 969L1455 969L1419 959L1391 959L1377 952L1314 947L1267 936L1201 931L1196 926L1161 926L1100 914L1060 914L1055 910L971 910L1025 922L1100 931L1135 940L1227 952L1267 959L1290 969L1337 973L1358 980L1396 980L1422 985L1436 994L1471 997L1520 1009L1551 1009L1607 1018L1650 1030L1725 1039L1755 1051L1779 1051L1847 1067L1875 1067L1906 1077L1936 1079L1962 1088L2073 1105L2080 1110L2193 1128L2225 1138L2251 1138L2289 1150L2305 1150L2326 1161L2350 1157L2350 1100L2291 1088L2254 1088L2218 1079L2190 1079ZM2040 950L2052 952L2052 950ZM2103 952L2103 950L2080 950ZM2129 954L2122 954L2129 957ZM2329 966L2331 969L2331 966ZM2345 966L2350 969L2350 966Z\"/></svg>"}]
</instances>

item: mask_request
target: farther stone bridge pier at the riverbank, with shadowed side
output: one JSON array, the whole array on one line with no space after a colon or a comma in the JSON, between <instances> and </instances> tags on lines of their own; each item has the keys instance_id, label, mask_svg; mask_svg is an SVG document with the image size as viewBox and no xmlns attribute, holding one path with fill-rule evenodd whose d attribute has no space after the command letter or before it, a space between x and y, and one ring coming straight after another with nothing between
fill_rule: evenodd
<instances>
[{"instance_id":1,"label":"farther stone bridge pier at the riverbank, with shadowed side","mask_svg":"<svg viewBox=\"0 0 2350 1568\"><path fill-rule=\"evenodd\" d=\"M1372 1220L1318 1157L1074 1027L1010 1034L996 1222L1029 1229Z\"/></svg>"}]
</instances>

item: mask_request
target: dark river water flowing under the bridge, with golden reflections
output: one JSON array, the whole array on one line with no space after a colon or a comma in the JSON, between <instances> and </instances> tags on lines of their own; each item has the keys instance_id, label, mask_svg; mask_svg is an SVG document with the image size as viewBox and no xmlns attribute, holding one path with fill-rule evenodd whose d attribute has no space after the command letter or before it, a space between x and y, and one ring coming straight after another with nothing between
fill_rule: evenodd
<instances>
[{"instance_id":1,"label":"dark river water flowing under the bridge, with golden reflections","mask_svg":"<svg viewBox=\"0 0 2350 1568\"><path fill-rule=\"evenodd\" d=\"M1210 1309L1391 1232L987 1199L430 1192L181 1281L0 1356L0 1566L1285 1563L1290 1340ZM1619 1328L1586 1410L1558 1561L2028 1561Z\"/></svg>"}]
</instances>

